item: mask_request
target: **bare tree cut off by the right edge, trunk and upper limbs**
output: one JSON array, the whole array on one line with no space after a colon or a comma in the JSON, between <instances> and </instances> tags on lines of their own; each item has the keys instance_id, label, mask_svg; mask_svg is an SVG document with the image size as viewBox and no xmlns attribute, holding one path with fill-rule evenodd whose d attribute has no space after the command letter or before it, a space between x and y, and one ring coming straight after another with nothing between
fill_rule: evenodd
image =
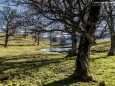
<instances>
[{"instance_id":1,"label":"bare tree cut off by the right edge, trunk and upper limbs","mask_svg":"<svg viewBox=\"0 0 115 86\"><path fill-rule=\"evenodd\" d=\"M108 29L111 35L111 47L110 50L108 52L108 56L113 56L115 55L115 6L114 3L110 4L110 3L106 3L104 4L104 18L105 21L107 22L108 25Z\"/></svg>"}]
</instances>

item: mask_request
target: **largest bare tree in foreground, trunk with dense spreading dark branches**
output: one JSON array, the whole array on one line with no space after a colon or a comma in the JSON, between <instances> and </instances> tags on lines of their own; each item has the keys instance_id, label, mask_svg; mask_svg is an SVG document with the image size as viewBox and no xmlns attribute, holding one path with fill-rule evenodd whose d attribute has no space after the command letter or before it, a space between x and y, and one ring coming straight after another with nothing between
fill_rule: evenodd
<instances>
[{"instance_id":1,"label":"largest bare tree in foreground, trunk with dense spreading dark branches","mask_svg":"<svg viewBox=\"0 0 115 86\"><path fill-rule=\"evenodd\" d=\"M74 77L91 80L89 77L90 48L95 44L94 33L99 19L100 0L23 0L52 22L58 21L81 34ZM103 0L105 1L105 0Z\"/></svg>"}]
</instances>

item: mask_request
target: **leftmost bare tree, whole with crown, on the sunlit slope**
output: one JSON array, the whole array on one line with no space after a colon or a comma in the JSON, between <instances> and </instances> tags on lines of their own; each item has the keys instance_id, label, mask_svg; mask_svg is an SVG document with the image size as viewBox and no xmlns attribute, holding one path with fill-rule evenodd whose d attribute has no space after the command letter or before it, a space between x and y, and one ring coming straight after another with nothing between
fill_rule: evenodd
<instances>
[{"instance_id":1,"label":"leftmost bare tree, whole with crown, on the sunlit slope","mask_svg":"<svg viewBox=\"0 0 115 86\"><path fill-rule=\"evenodd\" d=\"M3 7L3 10L0 10L1 15L1 29L5 32L5 44L4 47L8 45L8 39L11 35L11 30L14 30L18 27L18 14L16 9L12 9L9 6Z\"/></svg>"}]
</instances>

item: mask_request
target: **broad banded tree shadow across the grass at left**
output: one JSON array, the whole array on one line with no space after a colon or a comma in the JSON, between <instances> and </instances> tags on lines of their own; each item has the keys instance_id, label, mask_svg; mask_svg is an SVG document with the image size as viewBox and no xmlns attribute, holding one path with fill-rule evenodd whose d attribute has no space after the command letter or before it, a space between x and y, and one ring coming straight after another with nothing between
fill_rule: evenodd
<instances>
[{"instance_id":1,"label":"broad banded tree shadow across the grass at left","mask_svg":"<svg viewBox=\"0 0 115 86\"><path fill-rule=\"evenodd\" d=\"M8 80L14 78L15 76L19 76L20 73L22 75L31 76L31 70L34 72L38 72L39 68L44 66L48 66L50 64L56 64L60 62L67 61L65 58L47 58L48 56L55 56L56 54L36 54L33 55L21 55L21 56L13 56L13 57L0 57L0 81ZM44 56L42 58L41 56ZM26 59L26 60L25 60ZM73 60L71 58L69 60ZM14 70L14 72L12 71ZM5 72L7 70L11 70L11 72Z\"/></svg>"}]
</instances>

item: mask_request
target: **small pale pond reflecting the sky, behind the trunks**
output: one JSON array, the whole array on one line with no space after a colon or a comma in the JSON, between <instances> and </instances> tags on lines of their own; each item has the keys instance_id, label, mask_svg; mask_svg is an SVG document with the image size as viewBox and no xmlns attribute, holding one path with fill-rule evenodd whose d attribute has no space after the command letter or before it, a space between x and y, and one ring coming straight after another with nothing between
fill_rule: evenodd
<instances>
[{"instance_id":1,"label":"small pale pond reflecting the sky, behind the trunks","mask_svg":"<svg viewBox=\"0 0 115 86\"><path fill-rule=\"evenodd\" d=\"M45 52L67 52L70 49L71 48L44 48L44 49L41 49L41 50L45 51Z\"/></svg>"}]
</instances>

